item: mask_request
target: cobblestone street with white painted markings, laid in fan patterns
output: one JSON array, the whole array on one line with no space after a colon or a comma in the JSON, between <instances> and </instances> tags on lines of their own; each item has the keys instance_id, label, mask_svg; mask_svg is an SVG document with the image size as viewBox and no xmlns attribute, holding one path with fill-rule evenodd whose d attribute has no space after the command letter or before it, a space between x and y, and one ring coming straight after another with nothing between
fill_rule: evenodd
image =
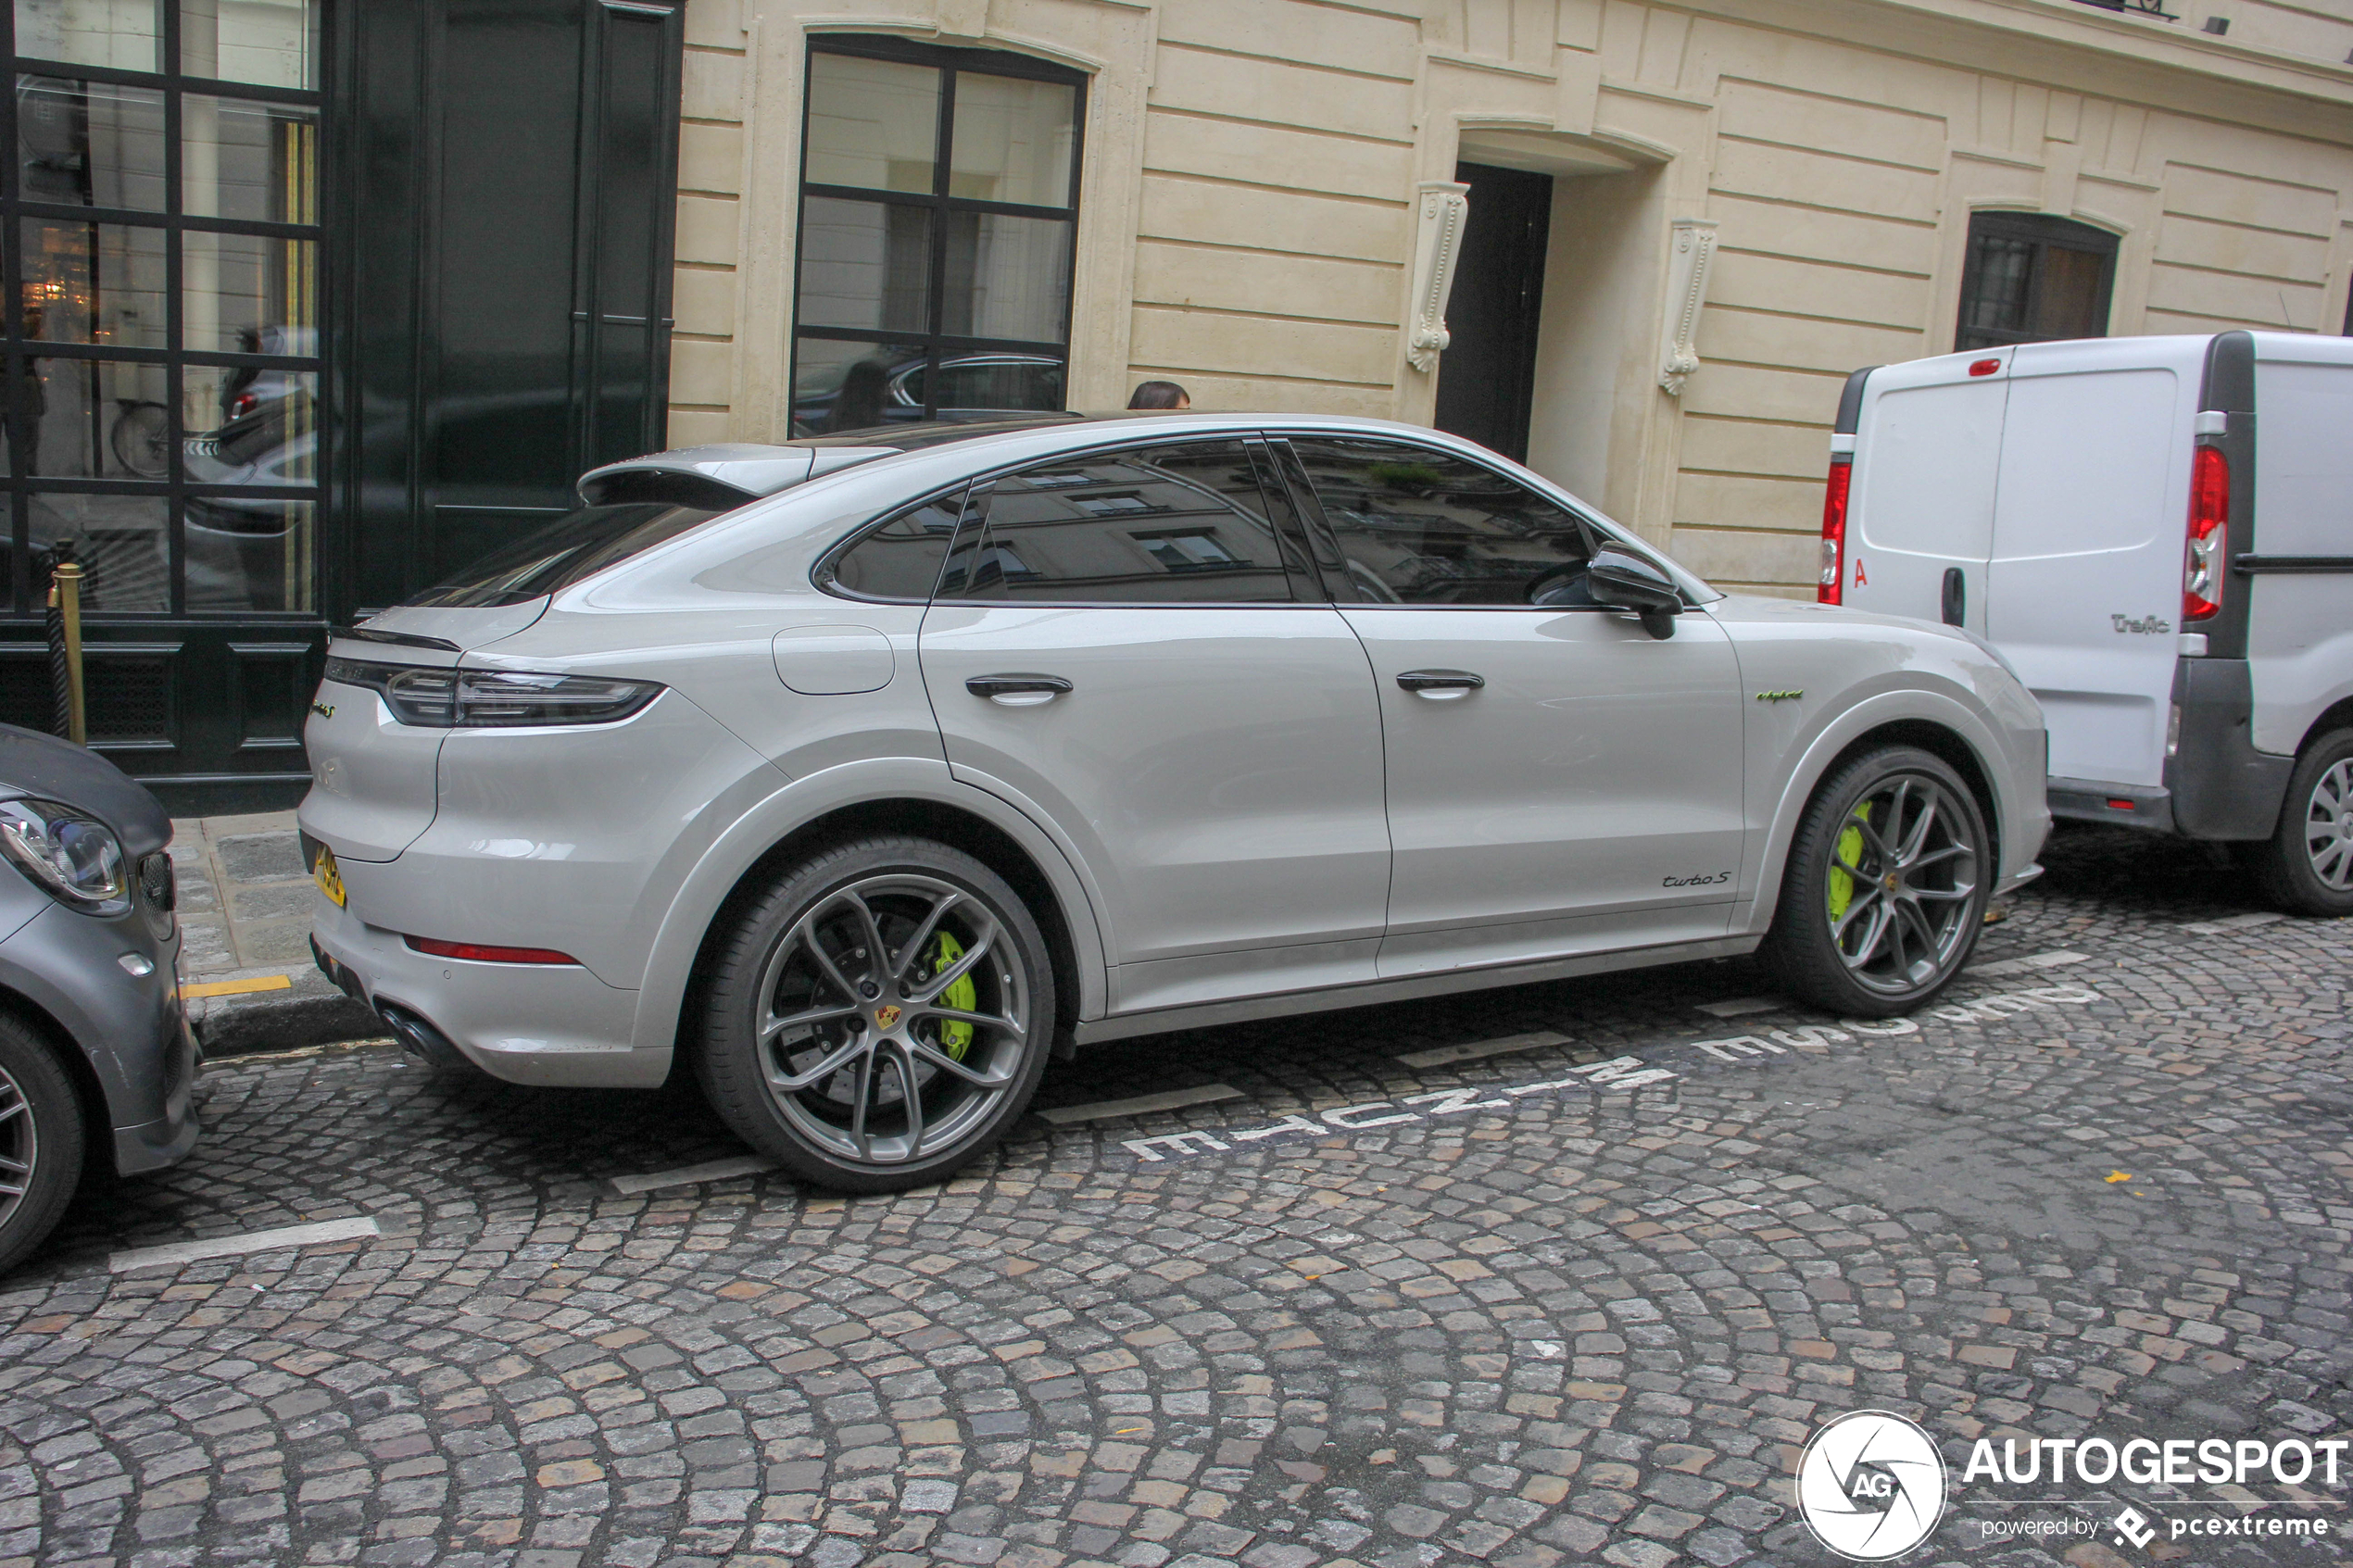
<instances>
[{"instance_id":1,"label":"cobblestone street with white painted markings, laid in fan patterns","mask_svg":"<svg viewBox=\"0 0 2353 1568\"><path fill-rule=\"evenodd\" d=\"M2341 1561L2108 1528L2266 1483L1962 1486L2353 1427L2353 929L2172 842L2047 863L1911 1025L1734 961L1132 1041L894 1199L694 1180L748 1161L692 1091L216 1063L195 1157L0 1295L0 1559L1828 1563L1793 1458L1885 1408L1953 1467L1906 1561Z\"/></svg>"}]
</instances>

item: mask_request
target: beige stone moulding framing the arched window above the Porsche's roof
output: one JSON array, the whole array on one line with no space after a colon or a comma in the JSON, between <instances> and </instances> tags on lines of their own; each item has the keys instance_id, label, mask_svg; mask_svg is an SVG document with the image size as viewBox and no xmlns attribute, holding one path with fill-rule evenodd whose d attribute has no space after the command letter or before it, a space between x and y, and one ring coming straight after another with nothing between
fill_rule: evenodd
<instances>
[{"instance_id":1,"label":"beige stone moulding framing the arched window above the Porsche's roof","mask_svg":"<svg viewBox=\"0 0 2353 1568\"><path fill-rule=\"evenodd\" d=\"M769 12L744 24L744 197L729 440L776 442L793 433L802 101L809 40L838 33L1002 49L1087 73L1066 400L1073 409L1115 409L1127 402L1136 226L1144 205L1144 108L1158 24L1151 9L1085 0L1047 0L1024 9L1021 24L1021 31L991 26L986 5L953 2L944 2L927 21L906 14L859 16L835 7L798 16Z\"/></svg>"}]
</instances>

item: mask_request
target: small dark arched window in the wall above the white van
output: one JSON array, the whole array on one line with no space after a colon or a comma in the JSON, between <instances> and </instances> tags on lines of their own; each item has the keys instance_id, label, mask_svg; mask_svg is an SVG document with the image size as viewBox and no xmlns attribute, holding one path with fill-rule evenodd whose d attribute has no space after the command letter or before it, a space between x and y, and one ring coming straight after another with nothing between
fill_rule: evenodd
<instances>
[{"instance_id":1,"label":"small dark arched window in the wall above the white van","mask_svg":"<svg viewBox=\"0 0 2353 1568\"><path fill-rule=\"evenodd\" d=\"M2031 212L1969 219L1955 350L2108 336L2115 235Z\"/></svg>"}]
</instances>

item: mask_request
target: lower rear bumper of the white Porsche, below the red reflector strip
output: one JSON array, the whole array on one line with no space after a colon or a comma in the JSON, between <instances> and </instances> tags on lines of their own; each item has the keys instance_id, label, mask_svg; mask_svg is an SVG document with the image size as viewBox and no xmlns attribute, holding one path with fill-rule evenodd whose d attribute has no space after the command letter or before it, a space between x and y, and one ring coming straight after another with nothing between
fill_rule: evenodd
<instances>
[{"instance_id":1,"label":"lower rear bumper of the white Porsche, below the red reflector strip","mask_svg":"<svg viewBox=\"0 0 2353 1568\"><path fill-rule=\"evenodd\" d=\"M671 1051L631 1048L638 992L605 985L576 964L471 964L414 952L322 893L311 940L320 969L351 997L407 1011L466 1060L508 1084L544 1088L654 1088Z\"/></svg>"}]
</instances>

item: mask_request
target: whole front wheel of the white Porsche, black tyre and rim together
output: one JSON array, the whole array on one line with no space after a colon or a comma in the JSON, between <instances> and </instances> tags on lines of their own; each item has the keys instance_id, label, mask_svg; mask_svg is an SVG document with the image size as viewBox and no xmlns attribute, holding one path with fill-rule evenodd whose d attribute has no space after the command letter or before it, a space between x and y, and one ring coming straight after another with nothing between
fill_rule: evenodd
<instances>
[{"instance_id":1,"label":"whole front wheel of the white Porsche, black tyre and rim together","mask_svg":"<svg viewBox=\"0 0 2353 1568\"><path fill-rule=\"evenodd\" d=\"M1798 823L1765 959L1840 1018L1908 1013L1969 961L1993 875L1993 835L1960 773L1911 745L1864 752Z\"/></svg>"}]
</instances>

